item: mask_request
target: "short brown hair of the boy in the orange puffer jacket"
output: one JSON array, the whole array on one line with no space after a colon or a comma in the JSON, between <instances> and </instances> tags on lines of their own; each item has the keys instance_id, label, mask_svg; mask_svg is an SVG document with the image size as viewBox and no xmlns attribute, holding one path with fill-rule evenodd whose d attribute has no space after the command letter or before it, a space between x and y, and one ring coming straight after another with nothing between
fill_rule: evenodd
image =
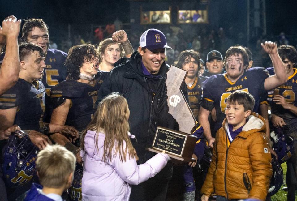
<instances>
[{"instance_id":1,"label":"short brown hair of the boy in the orange puffer jacket","mask_svg":"<svg viewBox=\"0 0 297 201\"><path fill-rule=\"evenodd\" d=\"M228 104L235 105L236 102L239 105L243 105L244 111L252 111L255 105L255 99L252 94L239 90L231 93L227 98Z\"/></svg>"}]
</instances>

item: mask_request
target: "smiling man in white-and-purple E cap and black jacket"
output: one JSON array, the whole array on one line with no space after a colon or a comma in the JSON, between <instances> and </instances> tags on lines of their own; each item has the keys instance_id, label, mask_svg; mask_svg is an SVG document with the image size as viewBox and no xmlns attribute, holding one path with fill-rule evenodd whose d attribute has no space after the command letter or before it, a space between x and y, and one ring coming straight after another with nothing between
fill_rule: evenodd
<instances>
[{"instance_id":1,"label":"smiling man in white-and-purple E cap and black jacket","mask_svg":"<svg viewBox=\"0 0 297 201\"><path fill-rule=\"evenodd\" d=\"M127 99L131 111L130 130L137 140L132 143L139 157L138 164L155 155L145 148L152 146L157 126L179 130L179 125L168 113L166 48L170 47L161 31L145 31L140 37L138 51L131 55L130 60L110 71L96 102L98 104L111 92L119 92ZM155 177L132 186L130 200L165 200L171 177L172 163L169 162Z\"/></svg>"}]
</instances>

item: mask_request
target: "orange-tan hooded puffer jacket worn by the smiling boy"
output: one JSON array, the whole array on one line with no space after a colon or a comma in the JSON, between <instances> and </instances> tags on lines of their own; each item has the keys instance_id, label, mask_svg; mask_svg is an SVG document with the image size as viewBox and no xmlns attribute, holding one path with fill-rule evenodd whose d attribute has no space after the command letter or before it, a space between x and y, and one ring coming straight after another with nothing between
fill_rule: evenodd
<instances>
[{"instance_id":1,"label":"orange-tan hooded puffer jacket worn by the smiling boy","mask_svg":"<svg viewBox=\"0 0 297 201\"><path fill-rule=\"evenodd\" d=\"M226 118L222 125L217 131L212 162L201 193L208 196L215 193L227 199L265 200L272 165L264 118L252 113L229 148Z\"/></svg>"}]
</instances>

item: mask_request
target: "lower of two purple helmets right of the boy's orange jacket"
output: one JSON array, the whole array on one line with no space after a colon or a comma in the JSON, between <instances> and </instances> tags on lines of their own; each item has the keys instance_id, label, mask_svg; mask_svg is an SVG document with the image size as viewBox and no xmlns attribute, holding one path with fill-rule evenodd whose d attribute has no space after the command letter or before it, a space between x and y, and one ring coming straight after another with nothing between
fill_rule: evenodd
<instances>
[{"instance_id":1,"label":"lower of two purple helmets right of the boy's orange jacket","mask_svg":"<svg viewBox=\"0 0 297 201\"><path fill-rule=\"evenodd\" d=\"M271 163L272 163L273 174L270 180L267 196L272 196L276 194L278 190L281 188L284 180L282 166L275 159L273 159Z\"/></svg>"}]
</instances>

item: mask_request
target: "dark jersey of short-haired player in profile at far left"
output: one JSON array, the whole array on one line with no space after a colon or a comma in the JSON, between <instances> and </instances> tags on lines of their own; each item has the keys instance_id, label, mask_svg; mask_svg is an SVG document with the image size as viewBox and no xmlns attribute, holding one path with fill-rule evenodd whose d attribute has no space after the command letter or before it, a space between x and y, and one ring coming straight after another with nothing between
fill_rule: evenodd
<instances>
[{"instance_id":1,"label":"dark jersey of short-haired player in profile at far left","mask_svg":"<svg viewBox=\"0 0 297 201\"><path fill-rule=\"evenodd\" d=\"M37 130L43 126L45 87L40 80L34 85L24 79L0 96L0 109L17 107L14 124L23 130Z\"/></svg>"}]
</instances>

